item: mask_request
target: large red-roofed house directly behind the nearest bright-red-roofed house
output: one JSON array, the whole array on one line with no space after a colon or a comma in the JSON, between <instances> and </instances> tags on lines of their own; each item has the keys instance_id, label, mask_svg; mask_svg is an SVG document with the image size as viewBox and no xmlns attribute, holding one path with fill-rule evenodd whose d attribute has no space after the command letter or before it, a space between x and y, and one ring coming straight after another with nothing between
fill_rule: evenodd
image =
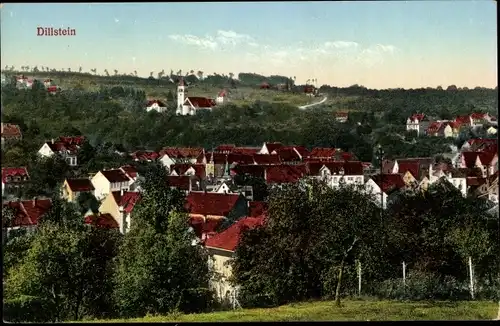
<instances>
[{"instance_id":1,"label":"large red-roofed house directly behind the nearest bright-red-roofed house","mask_svg":"<svg viewBox=\"0 0 500 326\"><path fill-rule=\"evenodd\" d=\"M205 240L223 220L237 220L248 215L248 204L241 194L192 191L186 197L189 223L196 235Z\"/></svg>"}]
</instances>

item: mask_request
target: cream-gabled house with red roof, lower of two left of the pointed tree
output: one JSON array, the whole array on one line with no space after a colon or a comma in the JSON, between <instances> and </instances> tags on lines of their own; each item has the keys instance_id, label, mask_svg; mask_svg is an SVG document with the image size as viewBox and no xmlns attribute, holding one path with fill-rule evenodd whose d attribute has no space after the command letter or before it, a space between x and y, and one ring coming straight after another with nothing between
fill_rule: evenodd
<instances>
[{"instance_id":1,"label":"cream-gabled house with red roof, lower of two left of the pointed tree","mask_svg":"<svg viewBox=\"0 0 500 326\"><path fill-rule=\"evenodd\" d=\"M141 193L135 191L113 191L102 201L100 214L110 214L121 233L130 230L135 205L141 200Z\"/></svg>"}]
</instances>

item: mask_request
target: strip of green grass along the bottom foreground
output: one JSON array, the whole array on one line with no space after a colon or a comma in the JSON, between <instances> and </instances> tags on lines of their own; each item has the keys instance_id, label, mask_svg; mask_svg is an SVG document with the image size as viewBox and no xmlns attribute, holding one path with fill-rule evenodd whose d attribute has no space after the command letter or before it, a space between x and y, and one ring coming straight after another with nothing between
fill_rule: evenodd
<instances>
[{"instance_id":1,"label":"strip of green grass along the bottom foreground","mask_svg":"<svg viewBox=\"0 0 500 326\"><path fill-rule=\"evenodd\" d=\"M492 320L494 302L333 301L299 303L270 309L241 309L205 314L147 316L137 319L91 322L228 322L228 321L389 321L389 320Z\"/></svg>"}]
</instances>

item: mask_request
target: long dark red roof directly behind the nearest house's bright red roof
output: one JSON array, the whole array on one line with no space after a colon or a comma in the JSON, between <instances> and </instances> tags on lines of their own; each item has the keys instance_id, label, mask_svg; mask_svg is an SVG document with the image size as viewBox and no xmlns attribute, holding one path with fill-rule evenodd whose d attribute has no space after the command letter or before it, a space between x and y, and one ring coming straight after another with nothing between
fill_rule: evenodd
<instances>
[{"instance_id":1,"label":"long dark red roof directly behind the nearest house's bright red roof","mask_svg":"<svg viewBox=\"0 0 500 326\"><path fill-rule=\"evenodd\" d=\"M227 216L239 198L238 194L190 192L186 197L186 209L191 214Z\"/></svg>"}]
</instances>

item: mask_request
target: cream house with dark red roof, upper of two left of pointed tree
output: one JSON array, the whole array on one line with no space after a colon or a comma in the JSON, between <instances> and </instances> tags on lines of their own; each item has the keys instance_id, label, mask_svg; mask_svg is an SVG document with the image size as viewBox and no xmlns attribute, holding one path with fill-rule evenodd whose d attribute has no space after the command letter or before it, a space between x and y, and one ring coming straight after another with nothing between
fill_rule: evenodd
<instances>
[{"instance_id":1,"label":"cream house with dark red roof, upper of two left of pointed tree","mask_svg":"<svg viewBox=\"0 0 500 326\"><path fill-rule=\"evenodd\" d=\"M91 179L94 195L98 200L104 199L111 192L136 191L137 171L130 166L102 170Z\"/></svg>"}]
</instances>

